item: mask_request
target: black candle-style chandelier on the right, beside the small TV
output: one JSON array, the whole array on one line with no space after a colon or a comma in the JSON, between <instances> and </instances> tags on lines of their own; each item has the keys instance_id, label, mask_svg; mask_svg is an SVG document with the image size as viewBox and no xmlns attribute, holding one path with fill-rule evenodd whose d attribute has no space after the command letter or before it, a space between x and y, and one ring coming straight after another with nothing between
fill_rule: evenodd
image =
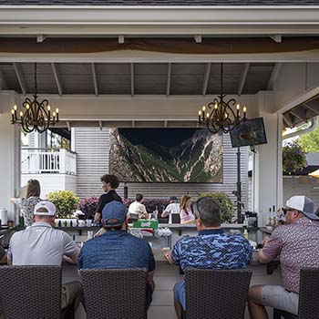
<instances>
[{"instance_id":1,"label":"black candle-style chandelier on the right, beside the small TV","mask_svg":"<svg viewBox=\"0 0 319 319\"><path fill-rule=\"evenodd\" d=\"M203 106L199 110L199 126L209 129L213 134L218 132L228 133L236 125L247 119L246 107L242 108L243 116L241 118L241 107L237 104L236 100L234 98L231 98L228 101L224 100L226 95L223 94L222 68L223 65L221 63L221 94L217 98L214 98L211 103L208 104L207 108L206 106ZM232 109L235 105L236 113Z\"/></svg>"}]
</instances>

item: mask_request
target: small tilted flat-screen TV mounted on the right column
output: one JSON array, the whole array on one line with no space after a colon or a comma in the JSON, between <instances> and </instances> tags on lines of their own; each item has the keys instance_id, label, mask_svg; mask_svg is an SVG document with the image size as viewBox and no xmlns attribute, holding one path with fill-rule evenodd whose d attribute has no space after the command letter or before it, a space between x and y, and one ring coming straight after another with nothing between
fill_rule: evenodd
<instances>
[{"instance_id":1,"label":"small tilted flat-screen TV mounted on the right column","mask_svg":"<svg viewBox=\"0 0 319 319\"><path fill-rule=\"evenodd\" d=\"M231 130L232 147L266 144L266 131L262 118L252 118L243 121Z\"/></svg>"}]
</instances>

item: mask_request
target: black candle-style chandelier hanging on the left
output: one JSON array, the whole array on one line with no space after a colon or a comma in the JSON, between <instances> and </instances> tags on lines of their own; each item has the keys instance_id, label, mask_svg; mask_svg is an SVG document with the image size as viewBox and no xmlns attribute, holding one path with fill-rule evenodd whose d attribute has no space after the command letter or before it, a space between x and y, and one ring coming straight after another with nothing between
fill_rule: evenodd
<instances>
[{"instance_id":1,"label":"black candle-style chandelier hanging on the left","mask_svg":"<svg viewBox=\"0 0 319 319\"><path fill-rule=\"evenodd\" d=\"M48 100L37 100L37 83L36 83L36 63L35 63L35 93L33 99L26 98L22 103L24 111L19 113L19 118L16 116L16 105L11 110L11 123L21 125L22 129L26 133L37 131L43 133L50 126L54 126L58 123L58 108L52 113L51 107L48 104Z\"/></svg>"}]
</instances>

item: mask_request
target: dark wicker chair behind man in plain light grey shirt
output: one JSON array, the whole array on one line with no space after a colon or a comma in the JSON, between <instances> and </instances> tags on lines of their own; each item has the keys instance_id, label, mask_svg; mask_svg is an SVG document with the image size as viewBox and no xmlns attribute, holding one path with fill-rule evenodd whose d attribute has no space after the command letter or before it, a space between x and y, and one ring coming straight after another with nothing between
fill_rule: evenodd
<instances>
[{"instance_id":1,"label":"dark wicker chair behind man in plain light grey shirt","mask_svg":"<svg viewBox=\"0 0 319 319\"><path fill-rule=\"evenodd\" d=\"M1 266L0 306L5 319L59 319L60 266Z\"/></svg>"}]
</instances>

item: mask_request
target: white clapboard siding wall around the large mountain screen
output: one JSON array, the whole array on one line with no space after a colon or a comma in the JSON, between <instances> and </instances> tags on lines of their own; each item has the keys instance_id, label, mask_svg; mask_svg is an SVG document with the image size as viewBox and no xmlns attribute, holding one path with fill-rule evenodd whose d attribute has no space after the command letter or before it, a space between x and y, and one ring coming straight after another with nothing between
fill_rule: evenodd
<instances>
[{"instance_id":1,"label":"white clapboard siding wall around the large mountain screen","mask_svg":"<svg viewBox=\"0 0 319 319\"><path fill-rule=\"evenodd\" d=\"M108 173L109 129L76 128L75 150L77 152L77 195L81 198L101 193L100 177ZM223 136L223 182L213 183L128 183L129 198L137 192L146 198L167 198L189 193L197 198L201 192L225 191L232 201L237 181L237 149L232 149L229 134ZM248 148L241 148L242 202L247 202ZM118 194L123 196L123 183ZM246 207L246 206L245 206Z\"/></svg>"}]
</instances>

